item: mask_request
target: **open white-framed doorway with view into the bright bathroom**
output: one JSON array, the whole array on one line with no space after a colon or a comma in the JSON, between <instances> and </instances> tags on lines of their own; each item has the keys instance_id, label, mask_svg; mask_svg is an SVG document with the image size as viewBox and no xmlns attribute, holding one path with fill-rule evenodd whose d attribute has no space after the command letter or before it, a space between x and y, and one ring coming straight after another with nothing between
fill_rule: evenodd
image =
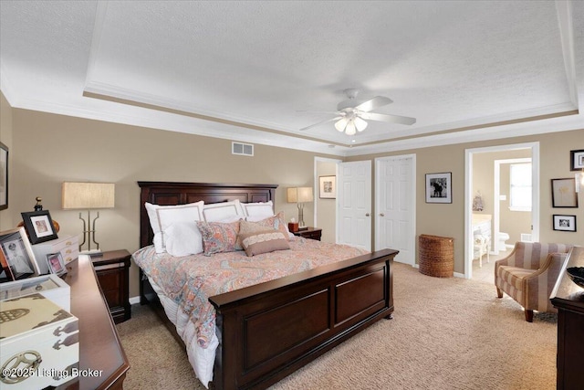
<instances>
[{"instance_id":1,"label":"open white-framed doorway with view into the bright bathroom","mask_svg":"<svg viewBox=\"0 0 584 390\"><path fill-rule=\"evenodd\" d=\"M478 263L479 251L474 243L474 235L481 234L489 237L490 258L500 258L506 252L503 249L503 242L499 237L499 232L509 233L502 228L501 216L509 217L509 165L513 160L515 163L527 163L531 160L531 207L521 212L514 211L521 218L526 220L521 228L527 229L521 233L531 234L531 239L537 241L539 237L539 143L519 143L510 145L500 145L486 148L467 149L465 153L465 212L464 212L464 278L473 277L474 262ZM521 159L521 160L516 160ZM495 163L497 161L497 163ZM501 171L503 167L503 171ZM504 174L501 174L504 172ZM495 182L495 176L497 182ZM501 185L501 180L506 183ZM502 213L501 210L505 210ZM507 221L508 222L508 221ZM507 245L513 245L520 240L519 233L515 228L503 224L503 227L512 229L513 234L509 235ZM475 231L477 230L478 231ZM500 251L497 255L497 250ZM483 267L493 266L493 261L486 263L486 256L483 258Z\"/></svg>"}]
</instances>

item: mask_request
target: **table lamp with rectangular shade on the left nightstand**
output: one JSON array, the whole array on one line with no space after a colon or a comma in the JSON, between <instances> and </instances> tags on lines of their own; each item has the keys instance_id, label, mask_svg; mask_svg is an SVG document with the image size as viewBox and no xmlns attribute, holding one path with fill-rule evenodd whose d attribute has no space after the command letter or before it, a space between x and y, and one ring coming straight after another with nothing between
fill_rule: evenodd
<instances>
[{"instance_id":1,"label":"table lamp with rectangular shade on the left nightstand","mask_svg":"<svg viewBox=\"0 0 584 390\"><path fill-rule=\"evenodd\" d=\"M91 220L91 210L114 207L115 184L64 182L61 195L63 209L85 209L88 211L87 220L79 212L79 219L83 221L83 242L79 244L79 251L87 241L87 252L99 252L99 243L95 240L95 221L99 218L99 211L97 216ZM91 241L96 245L96 249L91 249Z\"/></svg>"}]
</instances>

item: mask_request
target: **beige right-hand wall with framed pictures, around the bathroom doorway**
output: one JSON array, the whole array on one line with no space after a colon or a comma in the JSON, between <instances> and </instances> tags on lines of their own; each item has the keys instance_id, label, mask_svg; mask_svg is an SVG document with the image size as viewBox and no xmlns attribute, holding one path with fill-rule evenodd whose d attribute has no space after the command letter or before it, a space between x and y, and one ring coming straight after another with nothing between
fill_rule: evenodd
<instances>
[{"instance_id":1,"label":"beige right-hand wall with framed pictures, around the bathroom doorway","mask_svg":"<svg viewBox=\"0 0 584 390\"><path fill-rule=\"evenodd\" d=\"M558 242L584 245L584 196L579 195L579 208L552 208L551 179L573 176L569 171L569 151L584 149L584 129L572 132L554 132L504 140L468 142L455 145L435 146L391 153L353 156L347 161L372 160L377 157L416 154L416 237L431 234L454 237L454 271L464 273L464 158L466 149L506 145L523 142L540 142L540 207L539 239L542 242ZM423 194L424 174L452 172L453 203L427 204ZM373 191L373 194L375 192ZM560 232L552 228L553 214L575 215L579 231ZM417 248L416 248L417 251ZM416 260L417 261L417 260Z\"/></svg>"}]
</instances>

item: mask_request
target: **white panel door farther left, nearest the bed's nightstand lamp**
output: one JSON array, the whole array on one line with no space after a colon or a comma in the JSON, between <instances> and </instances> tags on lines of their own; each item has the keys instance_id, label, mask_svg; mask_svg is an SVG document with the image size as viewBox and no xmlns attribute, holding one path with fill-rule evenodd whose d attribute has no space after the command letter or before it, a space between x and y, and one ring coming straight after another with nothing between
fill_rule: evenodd
<instances>
[{"instance_id":1,"label":"white panel door farther left, nearest the bed's nightstand lamp","mask_svg":"<svg viewBox=\"0 0 584 390\"><path fill-rule=\"evenodd\" d=\"M339 163L339 244L371 250L371 162Z\"/></svg>"}]
</instances>

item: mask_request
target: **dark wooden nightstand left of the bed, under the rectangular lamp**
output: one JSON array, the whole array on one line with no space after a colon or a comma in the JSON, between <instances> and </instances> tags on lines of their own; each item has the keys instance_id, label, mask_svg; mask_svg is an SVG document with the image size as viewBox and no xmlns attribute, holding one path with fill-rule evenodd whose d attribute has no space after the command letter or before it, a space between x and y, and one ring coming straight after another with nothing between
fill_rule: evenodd
<instances>
[{"instance_id":1,"label":"dark wooden nightstand left of the bed, under the rectangular lamp","mask_svg":"<svg viewBox=\"0 0 584 390\"><path fill-rule=\"evenodd\" d=\"M103 296L116 323L130 320L130 252L110 250L91 255Z\"/></svg>"}]
</instances>

